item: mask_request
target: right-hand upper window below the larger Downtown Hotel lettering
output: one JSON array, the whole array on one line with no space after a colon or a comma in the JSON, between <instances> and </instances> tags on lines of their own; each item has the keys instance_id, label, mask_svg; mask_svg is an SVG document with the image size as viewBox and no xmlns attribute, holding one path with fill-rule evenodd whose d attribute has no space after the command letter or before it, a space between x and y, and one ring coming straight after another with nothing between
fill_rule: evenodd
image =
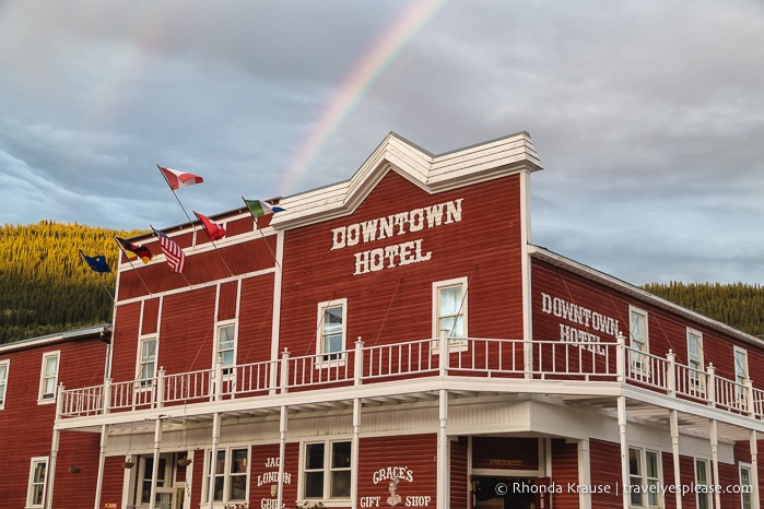
<instances>
[{"instance_id":1,"label":"right-hand upper window below the larger Downtown Hotel lettering","mask_svg":"<svg viewBox=\"0 0 764 509\"><path fill-rule=\"evenodd\" d=\"M433 283L433 338L467 338L467 277Z\"/></svg>"}]
</instances>

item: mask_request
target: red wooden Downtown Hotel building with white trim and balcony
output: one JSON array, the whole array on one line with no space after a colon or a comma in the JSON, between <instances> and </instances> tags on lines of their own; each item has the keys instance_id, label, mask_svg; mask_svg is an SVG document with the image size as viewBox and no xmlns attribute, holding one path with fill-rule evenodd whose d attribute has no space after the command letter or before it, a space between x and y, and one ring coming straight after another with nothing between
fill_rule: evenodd
<instances>
[{"instance_id":1,"label":"red wooden Downtown Hotel building with white trim and balcony","mask_svg":"<svg viewBox=\"0 0 764 509\"><path fill-rule=\"evenodd\" d=\"M106 378L59 391L48 507L759 508L762 341L534 246L540 169L525 132L390 134L214 244L165 230L181 274L132 239L158 254L121 260Z\"/></svg>"}]
</instances>

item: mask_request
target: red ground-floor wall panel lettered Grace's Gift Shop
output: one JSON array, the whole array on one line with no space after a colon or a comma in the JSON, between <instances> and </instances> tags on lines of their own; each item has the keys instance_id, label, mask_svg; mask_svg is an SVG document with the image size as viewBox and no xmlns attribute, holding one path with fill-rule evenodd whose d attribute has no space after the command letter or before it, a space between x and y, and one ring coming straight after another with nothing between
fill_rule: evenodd
<instances>
[{"instance_id":1,"label":"red ground-floor wall panel lettered Grace's Gift Shop","mask_svg":"<svg viewBox=\"0 0 764 509\"><path fill-rule=\"evenodd\" d=\"M425 507L425 502L426 507L436 506L436 435L364 438L359 455L361 504L366 502L366 507L387 506L390 483L395 484L391 477L396 477L400 506Z\"/></svg>"}]
</instances>

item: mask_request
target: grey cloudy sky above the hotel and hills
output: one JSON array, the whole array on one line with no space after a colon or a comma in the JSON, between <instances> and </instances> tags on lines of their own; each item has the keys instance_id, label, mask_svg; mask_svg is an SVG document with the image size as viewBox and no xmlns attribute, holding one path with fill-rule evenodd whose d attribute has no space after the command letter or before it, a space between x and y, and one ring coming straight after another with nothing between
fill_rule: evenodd
<instances>
[{"instance_id":1,"label":"grey cloudy sky above the hotel and hills","mask_svg":"<svg viewBox=\"0 0 764 509\"><path fill-rule=\"evenodd\" d=\"M530 132L532 240L764 283L757 0L0 0L0 223L143 229Z\"/></svg>"}]
</instances>

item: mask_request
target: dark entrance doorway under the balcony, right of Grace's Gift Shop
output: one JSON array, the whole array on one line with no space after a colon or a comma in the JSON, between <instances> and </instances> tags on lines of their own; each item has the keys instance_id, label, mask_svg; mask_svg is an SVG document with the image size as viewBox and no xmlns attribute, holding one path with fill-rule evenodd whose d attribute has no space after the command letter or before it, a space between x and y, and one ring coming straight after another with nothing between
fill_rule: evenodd
<instances>
[{"instance_id":1,"label":"dark entrance doorway under the balcony, right of Grace's Gift Shop","mask_svg":"<svg viewBox=\"0 0 764 509\"><path fill-rule=\"evenodd\" d=\"M534 478L472 477L473 509L540 509ZM544 505L549 509L549 504Z\"/></svg>"}]
</instances>

